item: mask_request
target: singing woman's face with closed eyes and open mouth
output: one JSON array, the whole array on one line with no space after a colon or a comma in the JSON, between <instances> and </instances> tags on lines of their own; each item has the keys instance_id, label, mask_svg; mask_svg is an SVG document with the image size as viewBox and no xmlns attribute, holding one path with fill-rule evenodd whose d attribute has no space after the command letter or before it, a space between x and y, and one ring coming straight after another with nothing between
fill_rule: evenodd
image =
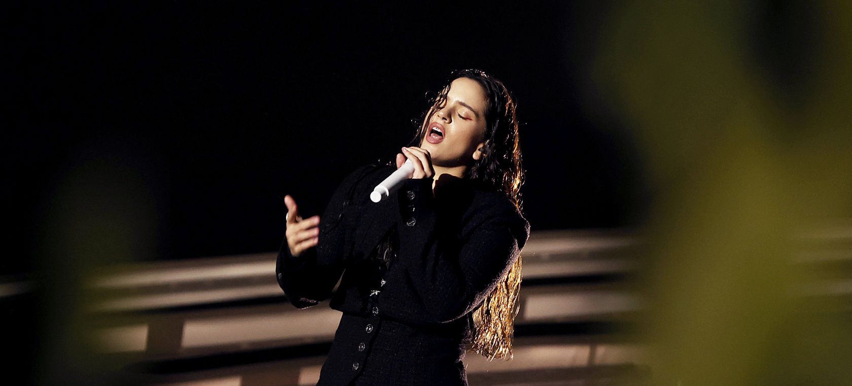
<instances>
[{"instance_id":1,"label":"singing woman's face with closed eyes and open mouth","mask_svg":"<svg viewBox=\"0 0 852 386\"><path fill-rule=\"evenodd\" d=\"M420 147L441 167L469 165L481 156L485 136L486 94L479 82L460 77L450 83L446 103L429 117ZM440 131L440 133L438 133Z\"/></svg>"}]
</instances>

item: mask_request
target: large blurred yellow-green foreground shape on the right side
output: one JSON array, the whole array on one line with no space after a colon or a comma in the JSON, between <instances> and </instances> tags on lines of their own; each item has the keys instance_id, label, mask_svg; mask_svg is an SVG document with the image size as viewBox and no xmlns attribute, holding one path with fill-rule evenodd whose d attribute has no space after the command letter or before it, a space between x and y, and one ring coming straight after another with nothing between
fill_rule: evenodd
<instances>
[{"instance_id":1,"label":"large blurred yellow-green foreground shape on the right side","mask_svg":"<svg viewBox=\"0 0 852 386\"><path fill-rule=\"evenodd\" d=\"M633 2L608 15L589 71L653 188L654 383L852 380L850 10Z\"/></svg>"}]
</instances>

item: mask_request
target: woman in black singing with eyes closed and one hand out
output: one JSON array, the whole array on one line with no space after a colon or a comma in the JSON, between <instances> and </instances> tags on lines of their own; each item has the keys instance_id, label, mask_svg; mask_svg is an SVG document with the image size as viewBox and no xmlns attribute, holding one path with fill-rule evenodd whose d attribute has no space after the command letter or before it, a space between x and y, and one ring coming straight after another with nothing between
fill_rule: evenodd
<instances>
[{"instance_id":1,"label":"woman in black singing with eyes closed and one hand out","mask_svg":"<svg viewBox=\"0 0 852 386\"><path fill-rule=\"evenodd\" d=\"M371 201L406 161L411 178ZM343 312L320 385L465 385L467 345L511 358L529 223L503 82L453 72L395 163L354 170L321 218L302 219L285 196L279 286L297 308L331 298Z\"/></svg>"}]
</instances>

